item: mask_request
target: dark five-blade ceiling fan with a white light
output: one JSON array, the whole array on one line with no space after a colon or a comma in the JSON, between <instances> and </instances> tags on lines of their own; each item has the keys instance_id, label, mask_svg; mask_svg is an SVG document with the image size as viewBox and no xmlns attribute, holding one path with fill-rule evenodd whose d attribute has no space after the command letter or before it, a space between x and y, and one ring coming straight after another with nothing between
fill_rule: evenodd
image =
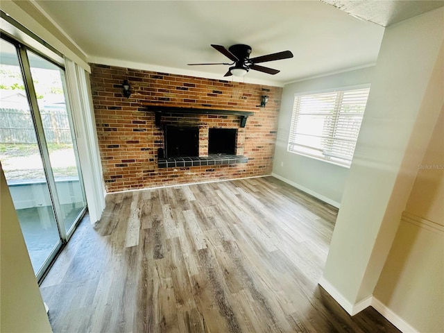
<instances>
[{"instance_id":1,"label":"dark five-blade ceiling fan with a white light","mask_svg":"<svg viewBox=\"0 0 444 333\"><path fill-rule=\"evenodd\" d=\"M227 73L224 76L244 76L250 69L253 71L262 71L266 74L275 75L280 71L269 67L256 65L260 62L281 60L293 58L291 51L282 51L278 53L267 54L266 56L260 56L256 58L250 58L251 47L245 44L235 44L227 49L222 45L211 44L217 51L222 53L225 57L232 60L232 62L213 62L207 64L188 64L190 66L198 65L230 65ZM234 65L234 66L233 66Z\"/></svg>"}]
</instances>

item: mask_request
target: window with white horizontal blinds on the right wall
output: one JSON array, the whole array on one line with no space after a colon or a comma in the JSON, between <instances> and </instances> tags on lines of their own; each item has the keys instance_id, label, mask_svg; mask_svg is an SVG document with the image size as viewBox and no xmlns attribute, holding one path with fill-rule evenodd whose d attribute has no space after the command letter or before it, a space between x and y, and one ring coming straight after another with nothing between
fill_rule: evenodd
<instances>
[{"instance_id":1,"label":"window with white horizontal blinds on the right wall","mask_svg":"<svg viewBox=\"0 0 444 333\"><path fill-rule=\"evenodd\" d=\"M297 94L288 151L350 167L370 87Z\"/></svg>"}]
</instances>

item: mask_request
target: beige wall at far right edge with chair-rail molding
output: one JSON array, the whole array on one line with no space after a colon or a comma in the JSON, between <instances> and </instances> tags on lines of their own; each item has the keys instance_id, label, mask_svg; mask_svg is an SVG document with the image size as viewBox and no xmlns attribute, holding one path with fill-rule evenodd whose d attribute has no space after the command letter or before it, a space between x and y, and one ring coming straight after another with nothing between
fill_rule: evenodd
<instances>
[{"instance_id":1,"label":"beige wall at far right edge with chair-rail molding","mask_svg":"<svg viewBox=\"0 0 444 333\"><path fill-rule=\"evenodd\" d=\"M444 332L444 108L374 296L418 332Z\"/></svg>"}]
</instances>

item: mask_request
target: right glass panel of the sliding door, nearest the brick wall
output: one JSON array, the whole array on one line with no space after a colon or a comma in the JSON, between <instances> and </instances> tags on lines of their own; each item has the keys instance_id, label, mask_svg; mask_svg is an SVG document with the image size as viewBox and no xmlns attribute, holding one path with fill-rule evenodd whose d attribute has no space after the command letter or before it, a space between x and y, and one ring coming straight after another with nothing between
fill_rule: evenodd
<instances>
[{"instance_id":1,"label":"right glass panel of the sliding door, nearest the brick wall","mask_svg":"<svg viewBox=\"0 0 444 333\"><path fill-rule=\"evenodd\" d=\"M56 212L68 233L85 210L86 200L65 99L64 72L31 51L27 54L56 184L60 206Z\"/></svg>"}]
</instances>

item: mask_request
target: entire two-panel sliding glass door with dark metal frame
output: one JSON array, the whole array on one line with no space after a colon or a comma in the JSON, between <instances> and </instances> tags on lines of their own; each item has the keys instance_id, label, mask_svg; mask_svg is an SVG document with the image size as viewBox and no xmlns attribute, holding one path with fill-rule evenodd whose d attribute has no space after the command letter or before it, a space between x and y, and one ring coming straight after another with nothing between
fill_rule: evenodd
<instances>
[{"instance_id":1,"label":"entire two-panel sliding glass door with dark metal frame","mask_svg":"<svg viewBox=\"0 0 444 333\"><path fill-rule=\"evenodd\" d=\"M65 72L0 40L0 161L41 278L86 209Z\"/></svg>"}]
</instances>

